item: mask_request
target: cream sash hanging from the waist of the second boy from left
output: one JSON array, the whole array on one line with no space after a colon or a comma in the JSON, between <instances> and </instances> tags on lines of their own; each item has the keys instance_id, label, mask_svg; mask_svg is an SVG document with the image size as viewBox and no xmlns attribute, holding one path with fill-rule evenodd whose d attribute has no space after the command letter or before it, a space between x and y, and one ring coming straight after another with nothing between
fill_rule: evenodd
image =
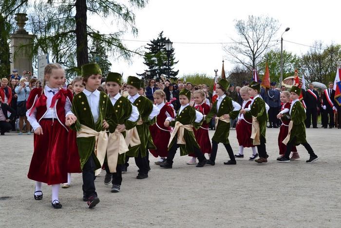
<instances>
[{"instance_id":1,"label":"cream sash hanging from the waist of the second boy from left","mask_svg":"<svg viewBox=\"0 0 341 228\"><path fill-rule=\"evenodd\" d=\"M129 151L129 148L122 133L118 130L115 130L114 133L109 133L107 160L111 173L116 172L118 154L123 154L127 151Z\"/></svg>"}]
</instances>

